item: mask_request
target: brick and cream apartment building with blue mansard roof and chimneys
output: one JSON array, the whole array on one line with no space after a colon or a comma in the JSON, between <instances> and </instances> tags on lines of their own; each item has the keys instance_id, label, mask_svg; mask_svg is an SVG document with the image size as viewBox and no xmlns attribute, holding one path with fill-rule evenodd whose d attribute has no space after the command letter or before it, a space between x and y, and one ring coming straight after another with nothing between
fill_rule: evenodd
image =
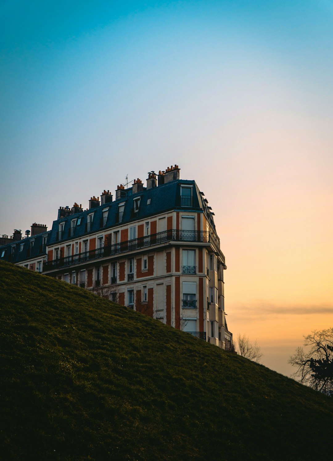
<instances>
[{"instance_id":1,"label":"brick and cream apartment building with blue mansard roof and chimneys","mask_svg":"<svg viewBox=\"0 0 333 461\"><path fill-rule=\"evenodd\" d=\"M60 207L52 230L0 248L0 258L78 284L167 325L229 349L225 257L214 213L178 165L131 187L104 190L83 211ZM36 228L36 226L39 226Z\"/></svg>"}]
</instances>

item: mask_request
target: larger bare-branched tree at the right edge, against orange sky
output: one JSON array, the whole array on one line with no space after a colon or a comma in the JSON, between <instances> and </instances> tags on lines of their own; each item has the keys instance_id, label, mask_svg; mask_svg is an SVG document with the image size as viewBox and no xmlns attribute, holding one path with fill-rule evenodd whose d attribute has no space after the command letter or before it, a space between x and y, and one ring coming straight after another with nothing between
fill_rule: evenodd
<instances>
[{"instance_id":1,"label":"larger bare-branched tree at the right edge, against orange sky","mask_svg":"<svg viewBox=\"0 0 333 461\"><path fill-rule=\"evenodd\" d=\"M304 346L296 349L288 361L297 370L291 375L300 383L333 396L333 328L312 331L304 336Z\"/></svg>"}]
</instances>

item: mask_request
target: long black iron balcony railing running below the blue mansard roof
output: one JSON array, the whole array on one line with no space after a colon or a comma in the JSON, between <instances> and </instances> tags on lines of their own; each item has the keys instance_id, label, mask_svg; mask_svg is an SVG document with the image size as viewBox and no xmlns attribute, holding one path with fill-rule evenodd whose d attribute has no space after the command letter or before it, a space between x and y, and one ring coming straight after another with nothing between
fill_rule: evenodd
<instances>
[{"instance_id":1,"label":"long black iron balcony railing running below the blue mansard roof","mask_svg":"<svg viewBox=\"0 0 333 461\"><path fill-rule=\"evenodd\" d=\"M103 248L95 248L94 250L89 250L72 256L65 256L63 258L48 261L44 265L44 271L58 269L59 267L71 266L73 264L81 264L99 258L105 258L108 256L113 256L140 248L146 248L165 242L210 242L209 237L210 236L208 231L179 231L175 229L169 229L168 231L158 232L157 234L146 235L143 237L134 238L133 240L126 240L125 242L106 245Z\"/></svg>"}]
</instances>

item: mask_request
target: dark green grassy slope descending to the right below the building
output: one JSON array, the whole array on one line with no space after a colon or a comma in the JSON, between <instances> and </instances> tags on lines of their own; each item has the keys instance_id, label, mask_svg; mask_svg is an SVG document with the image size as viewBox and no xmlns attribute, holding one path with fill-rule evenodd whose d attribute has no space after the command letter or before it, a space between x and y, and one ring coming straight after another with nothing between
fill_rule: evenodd
<instances>
[{"instance_id":1,"label":"dark green grassy slope descending to the right below the building","mask_svg":"<svg viewBox=\"0 0 333 461\"><path fill-rule=\"evenodd\" d=\"M0 300L2 459L332 459L332 398L3 262Z\"/></svg>"}]
</instances>

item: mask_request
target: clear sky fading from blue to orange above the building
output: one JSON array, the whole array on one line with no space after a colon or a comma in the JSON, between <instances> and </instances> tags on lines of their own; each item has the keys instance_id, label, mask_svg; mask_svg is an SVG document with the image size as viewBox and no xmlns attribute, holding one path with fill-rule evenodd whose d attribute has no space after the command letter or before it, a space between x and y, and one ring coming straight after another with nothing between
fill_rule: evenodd
<instances>
[{"instance_id":1,"label":"clear sky fading from blue to orange above the building","mask_svg":"<svg viewBox=\"0 0 333 461\"><path fill-rule=\"evenodd\" d=\"M2 0L0 30L0 233L178 164L230 331L290 375L333 326L333 2Z\"/></svg>"}]
</instances>

